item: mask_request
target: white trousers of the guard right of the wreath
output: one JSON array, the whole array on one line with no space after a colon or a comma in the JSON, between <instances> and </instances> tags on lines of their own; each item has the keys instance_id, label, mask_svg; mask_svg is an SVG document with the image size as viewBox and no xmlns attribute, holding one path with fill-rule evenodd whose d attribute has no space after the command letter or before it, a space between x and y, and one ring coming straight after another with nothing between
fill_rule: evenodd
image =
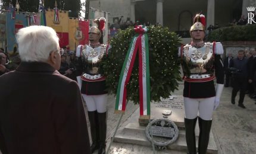
<instances>
[{"instance_id":1,"label":"white trousers of the guard right of the wreath","mask_svg":"<svg viewBox=\"0 0 256 154\"><path fill-rule=\"evenodd\" d=\"M193 119L198 116L203 120L211 120L214 110L215 97L188 98L184 97L185 118Z\"/></svg>"}]
</instances>

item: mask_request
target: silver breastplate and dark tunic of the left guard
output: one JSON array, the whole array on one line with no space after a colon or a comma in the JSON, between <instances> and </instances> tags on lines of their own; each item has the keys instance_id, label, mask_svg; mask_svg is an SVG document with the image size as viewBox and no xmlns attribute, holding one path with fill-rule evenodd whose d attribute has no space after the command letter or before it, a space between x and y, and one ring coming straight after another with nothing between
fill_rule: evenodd
<instances>
[{"instance_id":1,"label":"silver breastplate and dark tunic of the left guard","mask_svg":"<svg viewBox=\"0 0 256 154\"><path fill-rule=\"evenodd\" d=\"M86 95L107 94L105 76L99 73L99 63L106 53L107 45L101 44L98 47L78 46L76 56L79 58L77 74L81 75L81 93Z\"/></svg>"}]
</instances>

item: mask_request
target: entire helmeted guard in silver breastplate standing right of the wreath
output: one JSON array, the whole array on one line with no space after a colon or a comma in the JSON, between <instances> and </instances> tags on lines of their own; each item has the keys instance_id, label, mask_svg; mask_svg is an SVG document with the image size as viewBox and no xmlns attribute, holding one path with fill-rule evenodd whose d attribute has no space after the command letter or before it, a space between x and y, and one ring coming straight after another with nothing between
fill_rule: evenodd
<instances>
[{"instance_id":1,"label":"entire helmeted guard in silver breastplate standing right of the wreath","mask_svg":"<svg viewBox=\"0 0 256 154\"><path fill-rule=\"evenodd\" d=\"M198 153L207 152L213 111L220 103L224 84L221 60L223 46L219 42L205 43L205 17L196 14L190 30L191 44L180 48L184 79L186 143L190 154L196 153L195 124L198 118ZM214 74L215 73L215 74ZM214 79L217 79L216 88ZM199 115L198 115L199 113Z\"/></svg>"}]
</instances>

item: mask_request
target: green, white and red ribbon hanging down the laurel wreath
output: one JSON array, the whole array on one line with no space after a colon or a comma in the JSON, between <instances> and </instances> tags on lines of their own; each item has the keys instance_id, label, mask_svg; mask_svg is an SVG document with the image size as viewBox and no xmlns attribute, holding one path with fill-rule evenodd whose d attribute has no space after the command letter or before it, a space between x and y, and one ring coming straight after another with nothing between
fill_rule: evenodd
<instances>
[{"instance_id":1,"label":"green, white and red ribbon hanging down the laurel wreath","mask_svg":"<svg viewBox=\"0 0 256 154\"><path fill-rule=\"evenodd\" d=\"M148 31L142 25L135 27L135 36L130 43L129 50L121 70L117 99L115 102L115 113L124 113L126 109L127 89L126 85L132 75L132 68L135 62L136 53L139 50L139 104L140 118L150 118L150 82L149 82L149 49L148 49Z\"/></svg>"}]
</instances>

